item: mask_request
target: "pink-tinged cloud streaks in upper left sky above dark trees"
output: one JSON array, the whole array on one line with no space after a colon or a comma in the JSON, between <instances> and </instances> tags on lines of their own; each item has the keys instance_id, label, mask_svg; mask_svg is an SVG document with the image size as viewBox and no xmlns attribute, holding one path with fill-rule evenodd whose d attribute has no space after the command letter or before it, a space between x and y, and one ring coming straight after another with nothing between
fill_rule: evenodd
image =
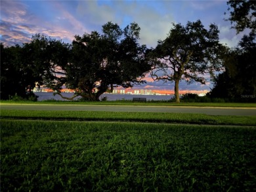
<instances>
[{"instance_id":1,"label":"pink-tinged cloud streaks in upper left sky above dark trees","mask_svg":"<svg viewBox=\"0 0 256 192\"><path fill-rule=\"evenodd\" d=\"M51 6L56 7L62 16L56 16L52 23L44 20L43 16L30 12L28 6L20 1L1 2L1 43L5 46L26 43L31 41L31 37L35 33L43 33L70 43L75 34L87 31L83 24L76 20L57 1L50 1L50 3L54 3ZM64 19L64 24L61 24L61 18ZM70 25L70 28L66 28L66 25Z\"/></svg>"}]
</instances>

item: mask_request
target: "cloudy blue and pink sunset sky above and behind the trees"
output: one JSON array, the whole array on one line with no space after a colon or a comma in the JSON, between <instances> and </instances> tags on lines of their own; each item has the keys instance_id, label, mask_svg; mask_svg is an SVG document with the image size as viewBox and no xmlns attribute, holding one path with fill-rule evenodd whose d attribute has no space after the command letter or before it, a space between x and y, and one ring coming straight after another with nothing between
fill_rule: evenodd
<instances>
[{"instance_id":1,"label":"cloudy blue and pink sunset sky above and behind the trees","mask_svg":"<svg viewBox=\"0 0 256 192\"><path fill-rule=\"evenodd\" d=\"M54 39L72 43L74 35L83 35L91 31L101 32L102 25L111 21L125 28L131 22L140 26L140 44L148 48L156 47L159 39L167 37L172 23L201 20L207 28L217 24L220 42L228 47L236 47L242 33L236 34L230 29L230 22L224 19L228 15L226 1L171 1L171 0L119 0L119 1L0 1L0 42L5 46L29 42L32 35L41 33ZM206 76L207 77L207 76ZM135 88L152 90L173 90L174 83L163 81L147 82ZM209 91L213 83L205 85L181 81L180 90Z\"/></svg>"}]
</instances>

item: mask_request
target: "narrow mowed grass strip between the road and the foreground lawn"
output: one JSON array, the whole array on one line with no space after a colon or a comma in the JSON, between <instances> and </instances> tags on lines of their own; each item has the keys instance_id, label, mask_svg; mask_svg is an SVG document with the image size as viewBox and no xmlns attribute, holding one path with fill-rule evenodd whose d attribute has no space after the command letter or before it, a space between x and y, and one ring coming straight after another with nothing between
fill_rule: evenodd
<instances>
[{"instance_id":1,"label":"narrow mowed grass strip between the road and the foreground lawn","mask_svg":"<svg viewBox=\"0 0 256 192\"><path fill-rule=\"evenodd\" d=\"M200 125L256 125L256 116L223 116L194 113L146 113L110 111L22 111L1 110L1 118L72 121L137 121Z\"/></svg>"}]
</instances>

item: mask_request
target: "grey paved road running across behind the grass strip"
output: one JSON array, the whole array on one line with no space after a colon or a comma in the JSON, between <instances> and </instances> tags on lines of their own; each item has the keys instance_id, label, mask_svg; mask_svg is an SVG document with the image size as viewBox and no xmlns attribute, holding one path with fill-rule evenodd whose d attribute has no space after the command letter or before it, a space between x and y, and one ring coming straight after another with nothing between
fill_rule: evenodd
<instances>
[{"instance_id":1,"label":"grey paved road running across behind the grass strip","mask_svg":"<svg viewBox=\"0 0 256 192\"><path fill-rule=\"evenodd\" d=\"M174 107L174 106L98 106L98 105L48 105L48 104L0 104L1 109L49 110L49 111L125 111L159 113L204 113L207 115L253 115L256 108L240 107Z\"/></svg>"}]
</instances>

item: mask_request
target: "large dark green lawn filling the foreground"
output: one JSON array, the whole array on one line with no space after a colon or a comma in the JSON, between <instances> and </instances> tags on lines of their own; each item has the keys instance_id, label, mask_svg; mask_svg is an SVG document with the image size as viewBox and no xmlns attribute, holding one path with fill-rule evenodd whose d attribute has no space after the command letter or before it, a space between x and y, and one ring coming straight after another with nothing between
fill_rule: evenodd
<instances>
[{"instance_id":1,"label":"large dark green lawn filling the foreground","mask_svg":"<svg viewBox=\"0 0 256 192\"><path fill-rule=\"evenodd\" d=\"M3 191L255 191L256 128L1 120Z\"/></svg>"}]
</instances>

